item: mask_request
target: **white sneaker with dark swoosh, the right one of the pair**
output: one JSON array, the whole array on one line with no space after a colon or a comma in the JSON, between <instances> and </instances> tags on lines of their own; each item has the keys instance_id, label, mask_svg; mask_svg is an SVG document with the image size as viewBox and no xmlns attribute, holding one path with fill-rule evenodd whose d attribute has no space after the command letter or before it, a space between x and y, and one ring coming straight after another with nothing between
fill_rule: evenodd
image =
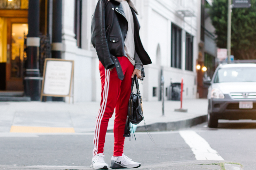
<instances>
[{"instance_id":1,"label":"white sneaker with dark swoosh, the right one of the pair","mask_svg":"<svg viewBox=\"0 0 256 170\"><path fill-rule=\"evenodd\" d=\"M117 157L112 156L109 167L112 169L138 168L140 167L140 163L133 162L132 159L122 154L122 156L117 156Z\"/></svg>"}]
</instances>

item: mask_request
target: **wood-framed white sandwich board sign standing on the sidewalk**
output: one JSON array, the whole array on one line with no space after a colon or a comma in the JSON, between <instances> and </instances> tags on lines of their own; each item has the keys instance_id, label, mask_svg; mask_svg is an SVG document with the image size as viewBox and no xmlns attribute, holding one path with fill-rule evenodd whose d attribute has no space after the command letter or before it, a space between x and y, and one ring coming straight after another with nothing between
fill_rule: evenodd
<instances>
[{"instance_id":1,"label":"wood-framed white sandwich board sign standing on the sidewalk","mask_svg":"<svg viewBox=\"0 0 256 170\"><path fill-rule=\"evenodd\" d=\"M69 97L70 103L73 79L73 60L46 58L44 61L41 101L43 96Z\"/></svg>"}]
</instances>

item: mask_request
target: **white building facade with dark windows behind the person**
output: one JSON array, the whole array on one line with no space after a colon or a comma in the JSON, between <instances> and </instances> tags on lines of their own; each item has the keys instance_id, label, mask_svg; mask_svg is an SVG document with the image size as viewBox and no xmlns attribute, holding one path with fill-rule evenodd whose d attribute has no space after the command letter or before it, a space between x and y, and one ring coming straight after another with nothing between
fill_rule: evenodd
<instances>
[{"instance_id":1,"label":"white building facade with dark windows behind the person","mask_svg":"<svg viewBox=\"0 0 256 170\"><path fill-rule=\"evenodd\" d=\"M61 17L58 16L60 9L56 8L58 2L61 2ZM144 66L146 77L143 85L140 85L143 100L161 99L161 76L164 77L166 99L171 92L171 83L180 83L181 78L184 78L183 98L196 98L201 3L197 0L133 2L139 11L141 41L152 60L152 64ZM50 57L54 57L55 52L59 51L62 59L75 61L75 102L100 101L99 60L91 44L91 17L96 4L97 0L40 1L39 28L41 33L49 35L53 51ZM29 18L29 14L24 18L26 17ZM58 38L55 34L60 33L56 32L56 23L61 24L61 41L56 41ZM2 90L22 91L24 87L5 87Z\"/></svg>"}]
</instances>

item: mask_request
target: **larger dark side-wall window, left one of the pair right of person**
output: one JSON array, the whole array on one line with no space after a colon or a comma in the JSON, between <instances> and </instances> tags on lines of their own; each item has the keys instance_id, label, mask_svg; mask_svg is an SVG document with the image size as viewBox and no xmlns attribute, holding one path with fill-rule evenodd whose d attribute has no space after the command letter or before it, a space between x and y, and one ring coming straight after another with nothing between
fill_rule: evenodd
<instances>
[{"instance_id":1,"label":"larger dark side-wall window, left one of the pair right of person","mask_svg":"<svg viewBox=\"0 0 256 170\"><path fill-rule=\"evenodd\" d=\"M181 28L172 24L171 66L181 69Z\"/></svg>"}]
</instances>

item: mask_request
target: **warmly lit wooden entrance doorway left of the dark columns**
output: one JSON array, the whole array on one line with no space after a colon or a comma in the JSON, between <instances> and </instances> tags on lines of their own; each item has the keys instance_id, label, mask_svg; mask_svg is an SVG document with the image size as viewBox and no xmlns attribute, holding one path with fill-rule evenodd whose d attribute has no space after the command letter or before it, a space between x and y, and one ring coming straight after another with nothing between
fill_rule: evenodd
<instances>
[{"instance_id":1,"label":"warmly lit wooden entrance doorway left of the dark columns","mask_svg":"<svg viewBox=\"0 0 256 170\"><path fill-rule=\"evenodd\" d=\"M28 34L28 19L1 17L0 22L0 66L5 68L0 69L1 90L23 91L24 58L27 57L24 38Z\"/></svg>"}]
</instances>

